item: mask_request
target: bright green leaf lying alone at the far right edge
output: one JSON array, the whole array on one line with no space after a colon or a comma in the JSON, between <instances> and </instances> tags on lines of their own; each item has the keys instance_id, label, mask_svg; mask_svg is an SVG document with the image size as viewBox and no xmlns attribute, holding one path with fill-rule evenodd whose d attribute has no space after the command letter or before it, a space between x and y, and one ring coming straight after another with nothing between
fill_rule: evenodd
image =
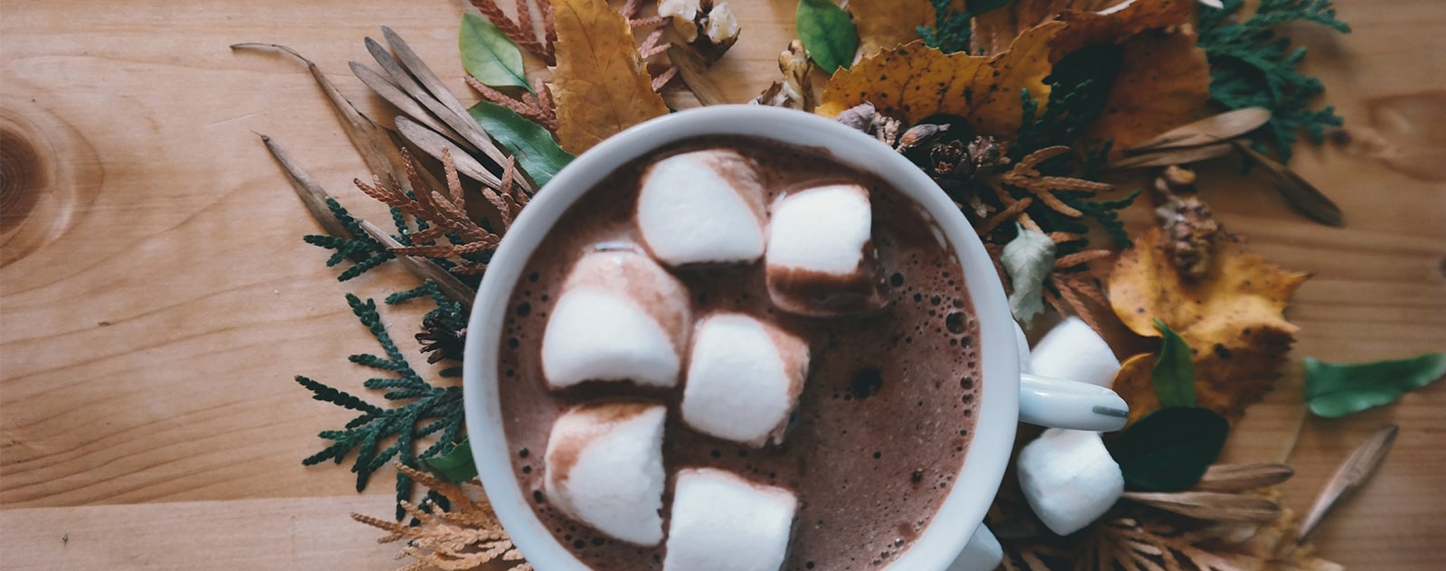
<instances>
[{"instance_id":1,"label":"bright green leaf lying alone at the far right edge","mask_svg":"<svg viewBox=\"0 0 1446 571\"><path fill-rule=\"evenodd\" d=\"M1306 357L1306 403L1316 416L1340 418L1390 405L1407 390L1446 374L1446 353L1375 363L1326 363Z\"/></svg>"}]
</instances>

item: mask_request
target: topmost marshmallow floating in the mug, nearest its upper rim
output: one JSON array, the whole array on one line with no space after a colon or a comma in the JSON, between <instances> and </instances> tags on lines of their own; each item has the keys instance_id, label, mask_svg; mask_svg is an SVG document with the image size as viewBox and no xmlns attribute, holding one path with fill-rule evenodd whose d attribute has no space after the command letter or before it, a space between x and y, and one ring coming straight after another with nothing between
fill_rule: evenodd
<instances>
[{"instance_id":1,"label":"topmost marshmallow floating in the mug, nearest its upper rim","mask_svg":"<svg viewBox=\"0 0 1446 571\"><path fill-rule=\"evenodd\" d=\"M642 175L638 230L669 266L753 262L763 254L763 184L732 150L669 156Z\"/></svg>"}]
</instances>

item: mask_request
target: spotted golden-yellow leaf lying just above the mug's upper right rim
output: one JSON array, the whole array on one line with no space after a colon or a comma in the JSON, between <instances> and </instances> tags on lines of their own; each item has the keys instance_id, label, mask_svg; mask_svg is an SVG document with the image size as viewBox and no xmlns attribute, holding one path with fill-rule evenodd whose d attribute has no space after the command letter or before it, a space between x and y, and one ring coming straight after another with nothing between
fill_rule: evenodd
<instances>
[{"instance_id":1,"label":"spotted golden-yellow leaf lying just above the mug's upper right rim","mask_svg":"<svg viewBox=\"0 0 1446 571\"><path fill-rule=\"evenodd\" d=\"M1019 130L1021 90L1048 97L1050 39L1063 23L1047 22L1015 39L996 56L944 53L911 42L863 58L829 78L818 114L837 117L849 107L872 103L879 113L910 124L937 113L964 117L979 134L1012 137Z\"/></svg>"}]
</instances>

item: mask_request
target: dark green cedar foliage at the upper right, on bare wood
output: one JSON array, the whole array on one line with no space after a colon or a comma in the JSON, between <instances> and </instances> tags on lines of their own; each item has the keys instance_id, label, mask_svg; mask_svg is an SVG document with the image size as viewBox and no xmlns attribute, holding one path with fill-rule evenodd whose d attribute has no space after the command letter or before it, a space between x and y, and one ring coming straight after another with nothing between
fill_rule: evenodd
<instances>
[{"instance_id":1,"label":"dark green cedar foliage at the upper right, on bare wood","mask_svg":"<svg viewBox=\"0 0 1446 571\"><path fill-rule=\"evenodd\" d=\"M1335 107L1312 110L1325 87L1297 71L1306 48L1290 49L1290 39L1275 35L1287 22L1314 22L1340 33L1351 26L1336 19L1330 0L1261 0L1251 17L1236 20L1244 0L1225 0L1223 9L1200 9L1200 40L1210 61L1210 97L1228 108L1265 107L1271 111L1257 146L1274 147L1288 162L1300 132L1312 142L1325 140L1325 129L1339 126Z\"/></svg>"}]
</instances>

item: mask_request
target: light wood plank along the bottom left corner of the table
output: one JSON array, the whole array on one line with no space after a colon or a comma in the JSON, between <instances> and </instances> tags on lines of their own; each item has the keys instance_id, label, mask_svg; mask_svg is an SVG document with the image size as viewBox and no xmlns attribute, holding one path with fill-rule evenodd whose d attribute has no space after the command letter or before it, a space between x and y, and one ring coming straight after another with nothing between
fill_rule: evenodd
<instances>
[{"instance_id":1,"label":"light wood plank along the bottom left corner of the table","mask_svg":"<svg viewBox=\"0 0 1446 571\"><path fill-rule=\"evenodd\" d=\"M398 570L401 544L353 522L386 499L337 496L0 510L6 570ZM375 532L375 533L373 533Z\"/></svg>"}]
</instances>

